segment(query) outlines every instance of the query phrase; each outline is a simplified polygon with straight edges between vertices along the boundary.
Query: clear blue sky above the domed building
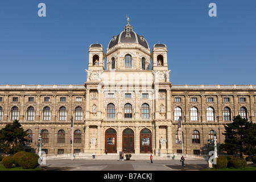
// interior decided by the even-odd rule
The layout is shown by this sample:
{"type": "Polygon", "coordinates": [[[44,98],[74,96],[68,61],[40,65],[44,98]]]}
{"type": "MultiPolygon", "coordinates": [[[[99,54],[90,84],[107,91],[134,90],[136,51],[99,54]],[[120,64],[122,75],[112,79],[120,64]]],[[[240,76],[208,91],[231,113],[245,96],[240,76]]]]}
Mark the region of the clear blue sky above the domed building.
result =
{"type": "Polygon", "coordinates": [[[0,84],[83,84],[90,44],[106,52],[126,14],[150,49],[167,45],[172,84],[256,85],[255,0],[1,0],[0,84]]]}

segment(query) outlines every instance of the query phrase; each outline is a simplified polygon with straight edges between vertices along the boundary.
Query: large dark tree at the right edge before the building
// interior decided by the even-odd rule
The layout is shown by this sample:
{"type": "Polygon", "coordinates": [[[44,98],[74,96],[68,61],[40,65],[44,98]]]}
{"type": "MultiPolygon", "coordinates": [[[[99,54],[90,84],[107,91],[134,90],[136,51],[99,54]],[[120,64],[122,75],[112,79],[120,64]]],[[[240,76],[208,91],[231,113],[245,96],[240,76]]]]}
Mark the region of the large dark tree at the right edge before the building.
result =
{"type": "Polygon", "coordinates": [[[221,149],[228,152],[228,154],[240,155],[255,154],[256,146],[256,124],[247,121],[237,115],[233,118],[232,123],[228,123],[225,127],[224,144],[221,144],[221,149]]]}

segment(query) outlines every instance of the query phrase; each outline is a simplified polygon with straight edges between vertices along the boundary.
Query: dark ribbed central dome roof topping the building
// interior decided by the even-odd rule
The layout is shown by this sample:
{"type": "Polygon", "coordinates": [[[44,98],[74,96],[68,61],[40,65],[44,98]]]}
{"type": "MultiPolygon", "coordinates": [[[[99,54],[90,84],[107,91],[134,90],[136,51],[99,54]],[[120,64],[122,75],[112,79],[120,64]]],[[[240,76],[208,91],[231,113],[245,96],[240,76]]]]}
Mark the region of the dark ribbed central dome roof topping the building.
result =
{"type": "Polygon", "coordinates": [[[114,47],[118,43],[139,43],[144,48],[149,48],[147,40],[144,39],[143,35],[138,35],[133,31],[133,26],[129,23],[123,28],[123,31],[117,35],[113,36],[110,40],[108,49],[114,47]]]}

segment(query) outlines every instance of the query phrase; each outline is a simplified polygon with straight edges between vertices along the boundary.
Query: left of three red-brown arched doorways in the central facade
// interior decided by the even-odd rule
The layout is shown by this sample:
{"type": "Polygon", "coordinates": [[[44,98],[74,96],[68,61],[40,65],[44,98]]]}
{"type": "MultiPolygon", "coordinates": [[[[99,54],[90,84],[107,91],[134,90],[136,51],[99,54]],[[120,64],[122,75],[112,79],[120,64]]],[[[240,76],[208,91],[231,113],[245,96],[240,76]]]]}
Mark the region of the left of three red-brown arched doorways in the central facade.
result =
{"type": "Polygon", "coordinates": [[[117,131],[114,129],[108,129],[105,133],[105,152],[108,150],[108,153],[117,152],[117,131]]]}

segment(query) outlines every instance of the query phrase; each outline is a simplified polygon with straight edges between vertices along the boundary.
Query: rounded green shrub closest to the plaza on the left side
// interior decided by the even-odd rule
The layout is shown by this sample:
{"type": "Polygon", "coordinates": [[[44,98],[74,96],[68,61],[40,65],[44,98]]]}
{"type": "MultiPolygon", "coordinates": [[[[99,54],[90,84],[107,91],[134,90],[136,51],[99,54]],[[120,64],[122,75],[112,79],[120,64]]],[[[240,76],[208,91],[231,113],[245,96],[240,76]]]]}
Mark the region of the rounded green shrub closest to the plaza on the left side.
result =
{"type": "Polygon", "coordinates": [[[39,156],[37,154],[24,154],[20,157],[20,166],[22,166],[23,169],[34,169],[39,165],[38,158],[39,156]]]}

